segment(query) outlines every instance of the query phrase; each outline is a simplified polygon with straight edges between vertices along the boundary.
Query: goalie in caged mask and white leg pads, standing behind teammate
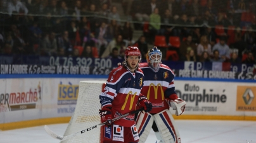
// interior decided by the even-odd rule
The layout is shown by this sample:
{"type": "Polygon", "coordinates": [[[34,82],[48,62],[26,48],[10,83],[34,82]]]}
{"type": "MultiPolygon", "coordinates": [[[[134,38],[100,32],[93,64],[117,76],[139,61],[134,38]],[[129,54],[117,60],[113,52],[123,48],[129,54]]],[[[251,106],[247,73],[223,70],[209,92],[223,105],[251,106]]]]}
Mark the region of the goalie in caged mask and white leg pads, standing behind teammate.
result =
{"type": "Polygon", "coordinates": [[[186,102],[178,98],[174,86],[174,73],[161,64],[162,52],[153,47],[146,55],[147,62],[139,64],[144,73],[144,86],[141,93],[152,103],[148,113],[140,112],[136,118],[139,142],[145,142],[151,128],[160,142],[180,143],[181,138],[169,108],[181,115],[186,102]]]}

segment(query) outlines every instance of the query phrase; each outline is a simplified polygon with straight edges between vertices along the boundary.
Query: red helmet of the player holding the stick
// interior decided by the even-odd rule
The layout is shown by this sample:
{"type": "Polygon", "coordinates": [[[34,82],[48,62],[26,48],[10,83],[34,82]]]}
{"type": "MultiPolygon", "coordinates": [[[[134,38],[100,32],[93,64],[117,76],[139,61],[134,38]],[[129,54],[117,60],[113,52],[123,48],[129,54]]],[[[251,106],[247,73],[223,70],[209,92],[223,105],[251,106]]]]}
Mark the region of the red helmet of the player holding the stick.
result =
{"type": "Polygon", "coordinates": [[[127,49],[125,49],[124,54],[125,54],[125,56],[124,56],[124,60],[125,60],[124,61],[124,66],[127,67],[128,69],[129,69],[129,67],[128,67],[128,64],[127,64],[127,58],[129,56],[138,56],[139,61],[138,61],[137,66],[136,66],[136,69],[137,69],[138,66],[139,66],[139,62],[141,61],[141,52],[139,51],[138,47],[129,46],[129,47],[127,47],[127,49]]]}

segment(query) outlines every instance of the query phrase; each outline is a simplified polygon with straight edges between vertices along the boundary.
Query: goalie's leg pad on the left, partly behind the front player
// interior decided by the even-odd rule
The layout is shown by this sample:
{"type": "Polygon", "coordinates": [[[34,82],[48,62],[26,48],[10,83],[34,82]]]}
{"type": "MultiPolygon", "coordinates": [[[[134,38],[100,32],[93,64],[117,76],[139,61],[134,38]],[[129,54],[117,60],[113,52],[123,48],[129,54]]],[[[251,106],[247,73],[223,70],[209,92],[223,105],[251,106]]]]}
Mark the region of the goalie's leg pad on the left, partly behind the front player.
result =
{"type": "Polygon", "coordinates": [[[139,143],[146,142],[154,120],[150,113],[139,112],[136,119],[136,127],[139,133],[139,143]]]}

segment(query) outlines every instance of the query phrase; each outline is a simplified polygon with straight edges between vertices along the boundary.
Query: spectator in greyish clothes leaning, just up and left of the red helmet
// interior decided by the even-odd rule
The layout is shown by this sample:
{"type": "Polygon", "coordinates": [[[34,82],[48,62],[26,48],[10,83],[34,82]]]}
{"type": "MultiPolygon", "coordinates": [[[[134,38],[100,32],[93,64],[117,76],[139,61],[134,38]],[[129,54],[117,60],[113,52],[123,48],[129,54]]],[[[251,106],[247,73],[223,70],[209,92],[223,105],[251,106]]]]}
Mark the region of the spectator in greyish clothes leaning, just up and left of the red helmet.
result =
{"type": "Polygon", "coordinates": [[[106,57],[110,56],[112,49],[114,47],[117,47],[118,53],[120,54],[120,52],[125,49],[125,45],[123,43],[124,42],[123,42],[122,35],[118,35],[117,38],[115,38],[108,44],[105,51],[101,55],[101,58],[106,58],[106,57]]]}

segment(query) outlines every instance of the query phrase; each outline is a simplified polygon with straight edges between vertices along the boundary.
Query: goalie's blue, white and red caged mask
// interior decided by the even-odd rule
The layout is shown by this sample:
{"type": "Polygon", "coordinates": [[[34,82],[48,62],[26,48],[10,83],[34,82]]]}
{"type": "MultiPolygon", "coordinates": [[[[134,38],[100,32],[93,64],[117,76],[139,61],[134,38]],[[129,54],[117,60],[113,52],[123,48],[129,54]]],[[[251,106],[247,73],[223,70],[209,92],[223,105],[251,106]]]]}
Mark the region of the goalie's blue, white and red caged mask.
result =
{"type": "Polygon", "coordinates": [[[162,52],[157,49],[157,47],[153,47],[148,50],[148,54],[146,54],[146,61],[148,62],[148,66],[150,66],[154,71],[158,71],[162,59],[162,52]]]}

